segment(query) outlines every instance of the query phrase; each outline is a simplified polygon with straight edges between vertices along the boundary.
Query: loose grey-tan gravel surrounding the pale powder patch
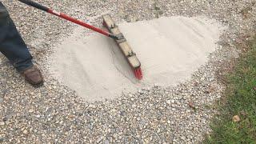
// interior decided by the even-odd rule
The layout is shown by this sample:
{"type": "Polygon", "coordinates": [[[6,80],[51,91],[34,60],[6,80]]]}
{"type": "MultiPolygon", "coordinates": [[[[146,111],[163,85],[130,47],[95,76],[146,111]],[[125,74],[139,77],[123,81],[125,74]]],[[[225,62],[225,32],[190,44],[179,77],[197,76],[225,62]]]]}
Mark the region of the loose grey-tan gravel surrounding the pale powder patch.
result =
{"type": "Polygon", "coordinates": [[[210,61],[190,81],[169,87],[146,87],[104,102],[86,102],[48,74],[52,47],[75,27],[20,2],[5,1],[10,15],[42,68],[45,86],[34,89],[0,55],[0,142],[3,143],[198,143],[210,133],[214,102],[225,86],[218,79],[223,63],[237,58],[236,43],[256,28],[254,0],[75,0],[38,1],[100,26],[101,14],[117,22],[161,16],[204,15],[229,27],[210,61]]]}

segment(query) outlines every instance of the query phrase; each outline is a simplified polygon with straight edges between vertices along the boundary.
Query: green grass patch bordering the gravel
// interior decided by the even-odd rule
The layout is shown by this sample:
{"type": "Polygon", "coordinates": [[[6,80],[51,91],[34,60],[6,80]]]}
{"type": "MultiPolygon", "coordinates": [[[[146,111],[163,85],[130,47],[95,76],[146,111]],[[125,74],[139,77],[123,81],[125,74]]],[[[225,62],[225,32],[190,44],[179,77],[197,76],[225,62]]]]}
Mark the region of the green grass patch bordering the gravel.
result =
{"type": "Polygon", "coordinates": [[[219,102],[221,114],[214,118],[213,132],[205,142],[256,144],[256,38],[226,75],[226,82],[226,97],[219,102]],[[234,115],[241,121],[233,122],[234,115]]]}

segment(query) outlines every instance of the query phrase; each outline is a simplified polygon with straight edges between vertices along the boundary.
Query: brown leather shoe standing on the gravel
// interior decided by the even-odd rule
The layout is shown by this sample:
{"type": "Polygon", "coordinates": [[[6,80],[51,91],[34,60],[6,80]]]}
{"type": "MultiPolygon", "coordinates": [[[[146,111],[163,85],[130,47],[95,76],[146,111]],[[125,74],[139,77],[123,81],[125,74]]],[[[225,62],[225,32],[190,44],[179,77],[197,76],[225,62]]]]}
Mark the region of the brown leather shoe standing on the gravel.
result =
{"type": "Polygon", "coordinates": [[[31,68],[25,70],[22,72],[22,75],[32,86],[39,87],[43,84],[42,73],[37,66],[32,66],[31,68]]]}

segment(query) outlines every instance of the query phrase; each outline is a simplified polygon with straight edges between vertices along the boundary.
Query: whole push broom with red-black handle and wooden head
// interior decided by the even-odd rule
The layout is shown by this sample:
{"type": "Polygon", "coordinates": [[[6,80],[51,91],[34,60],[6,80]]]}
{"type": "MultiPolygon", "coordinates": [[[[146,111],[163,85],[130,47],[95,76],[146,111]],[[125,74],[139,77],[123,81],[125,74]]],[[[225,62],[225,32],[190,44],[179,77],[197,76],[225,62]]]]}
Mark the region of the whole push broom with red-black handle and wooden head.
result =
{"type": "Polygon", "coordinates": [[[102,30],[98,27],[91,26],[87,24],[86,22],[82,22],[76,18],[71,18],[70,16],[59,13],[55,10],[52,10],[46,6],[42,6],[41,4],[37,2],[33,2],[30,0],[18,0],[19,2],[23,2],[28,6],[33,6],[34,8],[37,8],[39,10],[46,11],[47,13],[54,14],[58,16],[59,18],[64,18],[67,21],[74,22],[80,26],[84,26],[90,30],[94,30],[100,34],[104,34],[107,37],[113,38],[114,41],[118,44],[118,47],[122,51],[122,54],[124,54],[127,62],[130,64],[130,67],[134,71],[134,75],[138,80],[142,79],[142,70],[141,70],[141,63],[139,62],[136,54],[131,49],[130,45],[126,41],[126,38],[124,38],[123,34],[118,29],[118,26],[114,23],[113,19],[110,18],[109,14],[104,15],[103,18],[103,25],[107,28],[108,31],[102,30]]]}

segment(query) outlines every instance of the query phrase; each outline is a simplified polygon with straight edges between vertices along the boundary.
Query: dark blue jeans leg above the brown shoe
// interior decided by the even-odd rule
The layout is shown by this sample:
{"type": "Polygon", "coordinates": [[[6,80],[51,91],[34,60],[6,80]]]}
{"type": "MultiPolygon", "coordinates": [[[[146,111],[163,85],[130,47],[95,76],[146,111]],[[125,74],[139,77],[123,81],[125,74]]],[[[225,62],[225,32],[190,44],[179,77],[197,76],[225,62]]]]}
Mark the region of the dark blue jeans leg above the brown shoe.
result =
{"type": "Polygon", "coordinates": [[[33,66],[32,56],[2,2],[0,2],[0,52],[19,72],[33,66]]]}

